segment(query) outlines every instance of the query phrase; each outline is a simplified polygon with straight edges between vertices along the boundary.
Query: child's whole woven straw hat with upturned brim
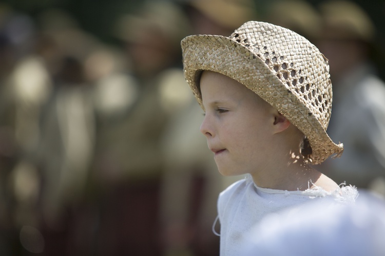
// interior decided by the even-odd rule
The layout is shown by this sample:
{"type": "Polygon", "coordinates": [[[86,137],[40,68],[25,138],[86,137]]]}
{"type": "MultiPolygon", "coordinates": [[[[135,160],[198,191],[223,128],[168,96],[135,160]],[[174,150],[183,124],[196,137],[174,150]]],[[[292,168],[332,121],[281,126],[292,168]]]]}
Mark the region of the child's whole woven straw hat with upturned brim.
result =
{"type": "Polygon", "coordinates": [[[202,105],[202,70],[229,76],[244,84],[290,120],[309,141],[313,164],[339,157],[326,128],[332,107],[328,59],[307,39],[264,22],[247,22],[230,37],[191,35],[182,42],[184,75],[202,105]]]}

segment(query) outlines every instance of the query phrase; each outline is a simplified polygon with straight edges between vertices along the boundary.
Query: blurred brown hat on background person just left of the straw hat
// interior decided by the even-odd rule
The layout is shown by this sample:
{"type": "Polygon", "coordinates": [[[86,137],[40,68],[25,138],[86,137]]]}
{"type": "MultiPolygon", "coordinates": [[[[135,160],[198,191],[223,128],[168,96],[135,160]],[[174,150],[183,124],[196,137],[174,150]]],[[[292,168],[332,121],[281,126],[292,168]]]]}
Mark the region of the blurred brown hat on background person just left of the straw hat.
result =
{"type": "Polygon", "coordinates": [[[115,36],[127,42],[136,42],[144,31],[156,32],[179,44],[188,35],[190,25],[178,5],[166,1],[150,1],[145,2],[136,13],[120,17],[115,26],[115,36]]]}

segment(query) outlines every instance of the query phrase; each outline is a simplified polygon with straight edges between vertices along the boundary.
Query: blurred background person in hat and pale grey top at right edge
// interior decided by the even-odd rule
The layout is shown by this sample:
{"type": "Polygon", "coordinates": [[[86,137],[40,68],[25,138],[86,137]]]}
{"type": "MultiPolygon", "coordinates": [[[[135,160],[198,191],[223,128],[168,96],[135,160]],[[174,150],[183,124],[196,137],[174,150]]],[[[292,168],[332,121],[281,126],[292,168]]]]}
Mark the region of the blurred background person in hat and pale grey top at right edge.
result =
{"type": "Polygon", "coordinates": [[[325,161],[324,170],[337,182],[385,195],[385,84],[370,59],[374,24],[349,1],[325,2],[319,11],[318,47],[329,58],[336,99],[328,132],[345,148],[340,159],[325,161]]]}

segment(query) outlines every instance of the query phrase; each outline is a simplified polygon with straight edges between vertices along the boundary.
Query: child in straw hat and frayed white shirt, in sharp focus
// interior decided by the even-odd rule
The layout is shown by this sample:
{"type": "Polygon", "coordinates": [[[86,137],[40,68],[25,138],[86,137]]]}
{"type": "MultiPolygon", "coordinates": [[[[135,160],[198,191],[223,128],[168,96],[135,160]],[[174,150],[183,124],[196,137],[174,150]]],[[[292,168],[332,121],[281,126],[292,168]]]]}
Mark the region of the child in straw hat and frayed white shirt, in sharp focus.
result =
{"type": "Polygon", "coordinates": [[[219,172],[249,174],[219,196],[221,255],[238,255],[243,236],[268,214],[322,198],[355,200],[355,188],[340,188],[312,167],[343,151],[326,134],[332,84],[314,45],[263,22],[247,22],[230,37],[188,36],[181,45],[219,172]]]}

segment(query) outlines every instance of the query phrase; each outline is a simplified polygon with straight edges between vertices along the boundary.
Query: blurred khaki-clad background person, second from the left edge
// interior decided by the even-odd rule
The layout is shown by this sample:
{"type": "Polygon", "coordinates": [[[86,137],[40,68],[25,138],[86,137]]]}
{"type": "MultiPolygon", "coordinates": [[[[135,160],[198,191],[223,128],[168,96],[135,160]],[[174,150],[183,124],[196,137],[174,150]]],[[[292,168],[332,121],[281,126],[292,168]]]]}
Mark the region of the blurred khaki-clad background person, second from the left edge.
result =
{"type": "MultiPolygon", "coordinates": [[[[40,13],[40,56],[52,80],[52,90],[40,117],[37,164],[42,175],[39,200],[44,253],[79,253],[88,246],[76,241],[76,218],[86,195],[95,146],[93,86],[85,60],[100,41],[75,18],[57,9],[40,13]]],[[[80,234],[77,234],[78,236],[80,234]]]]}

